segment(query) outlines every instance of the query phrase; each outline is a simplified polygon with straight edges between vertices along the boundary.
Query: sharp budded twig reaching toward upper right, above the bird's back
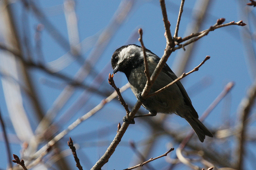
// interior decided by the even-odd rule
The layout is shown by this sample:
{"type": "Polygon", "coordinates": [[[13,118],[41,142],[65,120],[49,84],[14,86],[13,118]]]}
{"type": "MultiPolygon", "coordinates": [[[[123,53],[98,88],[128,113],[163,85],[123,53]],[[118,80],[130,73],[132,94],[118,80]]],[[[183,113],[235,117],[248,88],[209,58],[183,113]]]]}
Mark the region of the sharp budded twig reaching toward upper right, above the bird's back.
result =
{"type": "MultiPolygon", "coordinates": [[[[192,34],[188,35],[187,37],[184,37],[184,38],[182,38],[182,39],[177,40],[177,42],[178,42],[178,43],[182,43],[182,42],[187,41],[187,40],[189,40],[189,39],[191,39],[191,38],[193,38],[193,37],[197,37],[197,36],[199,36],[199,35],[201,35],[201,34],[203,34],[203,33],[205,33],[205,32],[207,32],[207,34],[208,34],[209,31],[214,31],[214,30],[216,30],[216,29],[218,29],[218,28],[226,27],[226,26],[230,26],[230,25],[245,26],[246,23],[244,23],[243,21],[238,21],[238,22],[232,21],[232,22],[229,22],[229,23],[221,24],[221,25],[216,24],[215,26],[211,26],[211,27],[210,27],[209,29],[207,29],[207,30],[200,31],[200,32],[198,32],[198,33],[192,33],[192,34]]],[[[207,35],[207,34],[204,34],[204,35],[207,35]]],[[[198,39],[197,39],[197,40],[198,40],[198,39]]],[[[193,40],[192,42],[197,41],[197,40],[193,40]]],[[[186,45],[188,45],[188,44],[191,44],[192,42],[190,42],[190,41],[189,41],[189,43],[186,42],[186,43],[183,44],[183,46],[186,46],[186,45]],[[187,43],[188,43],[188,44],[187,44],[187,43]]],[[[180,45],[182,45],[182,44],[180,44],[180,45]]],[[[177,47],[175,47],[175,50],[176,50],[176,48],[177,48],[177,47]]],[[[179,47],[179,48],[182,48],[182,47],[179,47]]],[[[179,48],[177,48],[177,49],[179,49],[179,48]]]]}

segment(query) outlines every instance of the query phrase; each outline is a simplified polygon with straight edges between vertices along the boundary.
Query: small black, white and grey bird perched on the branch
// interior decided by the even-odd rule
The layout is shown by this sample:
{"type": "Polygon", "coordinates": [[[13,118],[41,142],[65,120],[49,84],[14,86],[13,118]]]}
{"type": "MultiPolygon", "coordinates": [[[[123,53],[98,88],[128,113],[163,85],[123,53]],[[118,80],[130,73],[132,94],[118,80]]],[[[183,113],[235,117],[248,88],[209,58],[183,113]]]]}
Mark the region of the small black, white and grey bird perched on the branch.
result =
{"type": "MultiPolygon", "coordinates": [[[[148,70],[150,75],[152,75],[160,58],[147,49],[146,55],[148,60],[148,70]]],[[[211,132],[202,124],[202,122],[200,122],[200,120],[198,120],[198,114],[180,81],[176,82],[159,94],[142,99],[141,92],[145,87],[147,78],[144,73],[144,55],[141,46],[130,44],[118,48],[113,53],[111,65],[114,69],[114,74],[118,71],[124,72],[130,83],[132,92],[137,99],[142,101],[143,107],[149,111],[146,116],[155,116],[157,113],[175,113],[187,120],[201,142],[204,141],[205,135],[213,137],[211,132]]],[[[162,71],[156,78],[150,93],[165,87],[176,78],[177,76],[174,72],[167,64],[165,64],[162,71]]],[[[141,116],[145,115],[138,115],[135,117],[141,116]]],[[[128,120],[125,119],[125,117],[123,120],[126,123],[134,123],[134,121],[127,122],[128,120]]]]}

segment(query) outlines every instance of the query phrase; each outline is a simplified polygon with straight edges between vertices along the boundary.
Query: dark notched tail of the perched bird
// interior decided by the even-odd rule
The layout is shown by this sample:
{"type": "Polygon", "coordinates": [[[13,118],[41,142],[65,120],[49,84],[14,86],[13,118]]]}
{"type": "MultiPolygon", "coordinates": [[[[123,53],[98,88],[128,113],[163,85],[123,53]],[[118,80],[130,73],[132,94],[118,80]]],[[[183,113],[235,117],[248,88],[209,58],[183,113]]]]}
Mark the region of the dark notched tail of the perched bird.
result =
{"type": "Polygon", "coordinates": [[[198,120],[197,118],[194,117],[187,117],[185,118],[187,120],[187,122],[189,123],[189,125],[194,129],[194,131],[196,132],[196,135],[198,136],[199,140],[201,142],[204,142],[205,140],[205,135],[209,136],[209,137],[213,137],[213,135],[211,134],[211,132],[205,127],[204,124],[202,124],[202,122],[200,120],[198,120]]]}

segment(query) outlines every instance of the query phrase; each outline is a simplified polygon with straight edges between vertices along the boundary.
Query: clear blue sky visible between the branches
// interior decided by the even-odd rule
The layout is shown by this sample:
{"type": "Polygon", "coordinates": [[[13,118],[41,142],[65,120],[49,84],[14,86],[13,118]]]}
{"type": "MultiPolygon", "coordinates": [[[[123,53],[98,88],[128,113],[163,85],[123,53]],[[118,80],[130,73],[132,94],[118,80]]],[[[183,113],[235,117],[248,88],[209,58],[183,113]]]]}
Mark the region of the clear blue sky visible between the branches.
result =
{"type": "MultiPolygon", "coordinates": [[[[122,45],[125,45],[126,43],[135,43],[140,45],[140,43],[137,41],[138,35],[136,37],[135,34],[135,38],[130,38],[131,34],[136,33],[138,28],[143,29],[143,41],[146,48],[157,54],[159,57],[163,55],[166,40],[164,37],[164,24],[162,21],[161,8],[158,1],[128,1],[132,3],[133,6],[130,13],[128,14],[124,22],[122,22],[120,27],[114,27],[113,25],[109,25],[115,11],[120,5],[120,1],[77,0],[75,2],[79,39],[80,42],[84,40],[84,42],[87,42],[89,44],[87,46],[82,46],[82,49],[84,50],[82,50],[81,56],[83,57],[83,59],[86,59],[88,57],[93,58],[96,56],[95,52],[102,50],[102,53],[99,55],[99,59],[94,65],[95,72],[102,72],[101,75],[103,77],[103,82],[99,86],[101,90],[105,90],[108,92],[113,91],[112,87],[107,82],[109,72],[112,73],[112,68],[109,64],[111,56],[115,49],[119,48],[122,45]],[[107,42],[107,44],[104,44],[104,48],[102,46],[99,46],[100,48],[96,49],[97,46],[95,44],[97,44],[97,39],[106,28],[109,28],[111,31],[113,31],[113,36],[111,37],[109,42],[107,42]],[[88,39],[88,37],[91,38],[88,39]],[[88,50],[87,47],[89,47],[88,50]],[[104,69],[104,71],[102,71],[102,69],[104,69]]],[[[65,20],[65,15],[63,13],[63,1],[45,0],[37,1],[35,2],[35,4],[44,12],[44,14],[47,16],[47,19],[57,28],[61,35],[63,35],[65,39],[68,40],[67,24],[65,20]]],[[[180,1],[166,1],[168,19],[171,23],[172,34],[174,34],[177,22],[179,5],[180,1]]],[[[184,37],[186,28],[193,24],[194,21],[192,14],[194,6],[195,1],[185,1],[184,12],[180,22],[179,36],[184,37]]],[[[33,52],[33,60],[34,62],[38,62],[39,60],[36,53],[35,28],[38,24],[41,23],[41,21],[39,21],[38,18],[36,18],[33,14],[33,12],[29,10],[26,11],[28,15],[28,20],[26,20],[25,22],[22,19],[24,7],[19,1],[15,1],[12,4],[12,7],[15,11],[14,16],[17,23],[19,35],[21,36],[20,39],[23,40],[22,37],[24,36],[23,31],[25,27],[25,29],[29,33],[29,42],[33,52]]],[[[237,1],[212,1],[207,9],[205,19],[202,23],[200,30],[208,29],[211,25],[215,24],[218,18],[226,18],[225,23],[231,21],[237,22],[239,20],[248,21],[248,19],[245,18],[244,15],[241,15],[243,10],[247,8],[253,10],[252,7],[247,7],[246,3],[244,3],[243,6],[240,6],[237,1]]],[[[41,55],[44,58],[43,61],[45,64],[58,59],[69,51],[69,49],[64,49],[58,43],[56,43],[56,41],[50,36],[46,27],[47,26],[44,26],[42,31],[40,32],[40,48],[42,51],[41,55]]],[[[204,124],[209,127],[209,129],[221,128],[223,126],[223,122],[225,122],[225,116],[230,118],[229,121],[231,125],[234,125],[236,123],[238,105],[241,102],[242,98],[246,95],[248,87],[253,82],[253,77],[255,75],[248,71],[247,52],[245,51],[244,45],[242,44],[242,35],[240,35],[240,31],[249,28],[252,27],[249,27],[248,25],[245,27],[233,25],[216,29],[215,31],[210,32],[207,36],[201,38],[195,43],[193,53],[189,59],[189,64],[185,70],[186,72],[192,70],[195,66],[197,66],[202,60],[204,60],[206,55],[211,56],[211,58],[203,66],[200,67],[199,71],[194,72],[193,74],[187,76],[182,80],[182,83],[185,89],[187,89],[188,95],[190,96],[193,106],[195,107],[199,116],[206,110],[211,102],[214,101],[214,99],[222,91],[222,89],[228,82],[233,81],[235,83],[235,86],[228,94],[227,98],[223,100],[206,118],[204,124]],[[228,104],[229,102],[230,104],[228,104]],[[223,114],[223,110],[225,110],[224,108],[228,108],[228,113],[223,114]]],[[[253,47],[255,47],[255,42],[253,43],[253,47]]],[[[175,66],[173,64],[175,57],[178,57],[183,53],[184,51],[182,49],[179,49],[172,53],[167,61],[167,64],[171,68],[174,68],[175,66]]],[[[69,77],[73,77],[79,70],[80,66],[80,62],[72,62],[66,68],[61,70],[60,73],[66,74],[69,77]]],[[[33,79],[33,84],[36,88],[37,95],[39,96],[39,101],[43,107],[43,111],[46,113],[48,109],[52,106],[52,103],[56,100],[57,96],[63,90],[63,87],[65,87],[65,81],[54,76],[49,76],[48,74],[38,69],[31,69],[30,71],[30,75],[33,79]]],[[[175,70],[173,71],[175,72],[175,70]]],[[[90,85],[94,77],[95,74],[90,73],[83,82],[90,85]]],[[[114,75],[114,80],[119,88],[127,83],[127,79],[122,73],[114,75]]],[[[96,85],[94,84],[93,86],[96,85]]],[[[0,84],[0,87],[0,99],[2,101],[0,103],[1,112],[7,124],[8,133],[15,134],[15,131],[11,125],[10,119],[7,114],[8,111],[4,100],[2,84],[0,84]]],[[[83,89],[78,88],[77,90],[75,90],[72,97],[60,110],[54,121],[58,121],[61,115],[65,113],[67,109],[76,102],[82,92],[83,89]]],[[[33,109],[29,107],[30,105],[28,96],[26,96],[26,94],[23,94],[23,96],[25,102],[24,107],[30,119],[31,127],[33,130],[35,130],[38,124],[38,120],[36,120],[35,116],[33,116],[33,109]]],[[[125,101],[135,104],[136,98],[130,89],[126,90],[123,93],[123,96],[125,101]]],[[[68,120],[65,124],[59,125],[59,132],[67,128],[67,126],[69,126],[78,117],[90,111],[93,107],[100,103],[102,99],[104,99],[104,97],[101,95],[90,96],[88,101],[84,105],[82,105],[81,109],[79,109],[73,115],[73,117],[70,118],[70,120],[68,120]]],[[[145,109],[141,108],[141,111],[145,111],[145,109]]],[[[253,109],[253,111],[255,112],[255,108],[253,109]]],[[[68,137],[71,136],[74,142],[77,141],[80,144],[78,156],[80,154],[87,155],[88,157],[88,159],[86,159],[86,162],[81,161],[82,166],[85,169],[86,167],[90,167],[99,159],[100,156],[102,156],[102,154],[104,154],[110,141],[112,141],[115,136],[117,124],[119,122],[122,123],[122,117],[124,115],[125,111],[120,103],[117,101],[111,101],[110,103],[106,104],[103,109],[101,109],[95,115],[80,124],[76,129],[71,131],[62,140],[60,140],[60,148],[63,150],[68,149],[66,143],[68,137]],[[104,129],[105,127],[109,127],[109,132],[102,132],[102,130],[99,130],[102,128],[104,129]],[[87,135],[84,135],[87,133],[93,134],[90,134],[88,137],[87,135]],[[102,141],[106,141],[106,143],[103,142],[102,146],[100,146],[100,142],[102,141]],[[93,142],[97,143],[98,147],[93,145],[93,142]],[[86,163],[87,165],[85,165],[84,163],[86,163]]],[[[167,122],[170,122],[171,125],[175,125],[175,128],[186,127],[188,131],[190,130],[187,122],[175,115],[168,116],[167,120],[167,122]]],[[[133,140],[141,144],[141,141],[149,138],[148,134],[150,133],[150,128],[143,124],[143,118],[138,118],[138,120],[135,119],[135,122],[135,125],[129,126],[122,139],[122,142],[120,143],[120,146],[117,147],[109,162],[103,168],[122,169],[133,165],[132,161],[136,159],[136,156],[131,151],[131,148],[129,147],[129,144],[127,144],[127,142],[129,140],[133,140]]],[[[234,138],[230,137],[227,140],[232,141],[234,140],[234,138]]],[[[161,136],[159,137],[159,139],[157,139],[157,146],[154,147],[150,157],[156,157],[166,152],[166,145],[168,142],[172,142],[173,147],[178,146],[178,143],[175,143],[172,139],[161,136]]],[[[3,141],[0,141],[0,144],[4,146],[3,141]]],[[[255,145],[252,145],[250,147],[255,147],[255,145]]],[[[11,149],[12,153],[19,155],[21,146],[20,144],[12,144],[11,149]]],[[[143,145],[139,145],[139,149],[143,149],[143,145]]],[[[5,147],[0,147],[0,152],[5,153],[5,147]]],[[[252,152],[255,155],[255,150],[252,150],[252,152]]],[[[170,156],[175,157],[175,152],[172,152],[170,156]]],[[[83,159],[82,157],[83,156],[79,157],[80,160],[83,159]]],[[[69,156],[69,159],[72,159],[72,157],[69,156]]],[[[6,157],[3,157],[3,159],[0,160],[0,168],[4,169],[6,167],[6,162],[6,157]]],[[[159,165],[159,167],[164,168],[166,165],[160,166],[160,164],[162,164],[163,162],[165,162],[164,158],[155,161],[155,163],[152,163],[152,165],[155,167],[159,165]]],[[[72,167],[72,169],[76,169],[74,161],[71,162],[70,166],[72,167]]],[[[246,166],[249,168],[252,165],[246,163],[246,166]]]]}

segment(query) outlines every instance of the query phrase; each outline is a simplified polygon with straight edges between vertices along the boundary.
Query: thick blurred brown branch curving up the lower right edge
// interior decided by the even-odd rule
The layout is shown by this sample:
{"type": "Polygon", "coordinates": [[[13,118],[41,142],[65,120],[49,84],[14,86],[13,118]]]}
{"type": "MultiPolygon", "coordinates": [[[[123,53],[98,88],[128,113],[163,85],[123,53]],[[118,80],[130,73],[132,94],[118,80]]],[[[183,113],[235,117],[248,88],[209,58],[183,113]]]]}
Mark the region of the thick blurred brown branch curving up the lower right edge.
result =
{"type": "Polygon", "coordinates": [[[239,124],[237,126],[238,146],[237,146],[237,169],[243,169],[244,152],[245,152],[245,140],[248,125],[248,116],[256,98],[256,79],[253,85],[247,91],[247,96],[241,101],[239,106],[239,124]]]}

